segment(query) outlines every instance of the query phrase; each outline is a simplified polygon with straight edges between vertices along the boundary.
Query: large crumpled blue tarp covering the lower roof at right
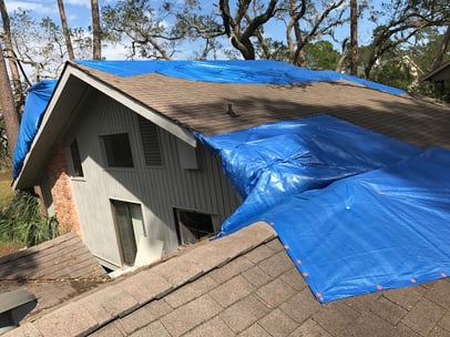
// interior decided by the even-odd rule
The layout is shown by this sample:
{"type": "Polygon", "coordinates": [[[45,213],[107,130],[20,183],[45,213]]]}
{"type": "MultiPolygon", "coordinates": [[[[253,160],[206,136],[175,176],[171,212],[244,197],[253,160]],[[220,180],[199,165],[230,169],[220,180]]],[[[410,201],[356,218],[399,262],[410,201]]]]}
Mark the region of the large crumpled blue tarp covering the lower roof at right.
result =
{"type": "Polygon", "coordinates": [[[450,273],[450,152],[329,116],[197,137],[245,198],[222,233],[273,225],[329,302],[450,273]]]}

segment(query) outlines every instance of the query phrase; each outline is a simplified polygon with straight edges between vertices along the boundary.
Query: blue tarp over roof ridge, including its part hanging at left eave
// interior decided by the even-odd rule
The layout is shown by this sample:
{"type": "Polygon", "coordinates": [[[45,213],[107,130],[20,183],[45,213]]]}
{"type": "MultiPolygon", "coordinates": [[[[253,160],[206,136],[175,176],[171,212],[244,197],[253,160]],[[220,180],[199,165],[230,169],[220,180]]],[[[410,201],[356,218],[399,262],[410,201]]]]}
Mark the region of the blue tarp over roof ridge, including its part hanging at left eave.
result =
{"type": "MultiPolygon", "coordinates": [[[[392,86],[358,79],[335,71],[314,71],[287,63],[256,61],[99,61],[79,60],[79,64],[105,71],[120,76],[132,76],[145,73],[160,73],[167,76],[206,81],[216,83],[250,84],[298,84],[318,81],[347,80],[379,91],[405,94],[392,86]]],[[[57,81],[44,80],[29,89],[29,96],[22,116],[18,144],[13,154],[13,177],[19,176],[24,157],[38,132],[42,113],[53,92],[57,81]]]]}

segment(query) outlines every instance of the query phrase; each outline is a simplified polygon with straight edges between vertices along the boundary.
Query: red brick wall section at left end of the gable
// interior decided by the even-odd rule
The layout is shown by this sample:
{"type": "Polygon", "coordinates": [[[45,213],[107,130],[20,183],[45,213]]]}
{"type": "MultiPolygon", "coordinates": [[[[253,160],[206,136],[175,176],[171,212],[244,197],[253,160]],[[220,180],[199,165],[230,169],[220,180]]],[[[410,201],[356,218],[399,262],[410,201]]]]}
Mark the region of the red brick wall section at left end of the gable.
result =
{"type": "Polygon", "coordinates": [[[61,233],[80,232],[80,223],[68,172],[64,147],[61,143],[58,143],[54,145],[49,160],[48,175],[61,233]]]}

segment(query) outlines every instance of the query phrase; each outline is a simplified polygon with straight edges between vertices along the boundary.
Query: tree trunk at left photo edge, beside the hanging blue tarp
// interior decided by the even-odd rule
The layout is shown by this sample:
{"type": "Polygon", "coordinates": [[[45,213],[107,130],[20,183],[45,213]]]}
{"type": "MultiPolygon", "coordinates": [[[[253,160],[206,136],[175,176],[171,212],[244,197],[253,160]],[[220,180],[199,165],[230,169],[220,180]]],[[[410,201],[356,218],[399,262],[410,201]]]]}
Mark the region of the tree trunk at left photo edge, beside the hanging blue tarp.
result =
{"type": "Polygon", "coordinates": [[[8,135],[8,146],[13,153],[19,133],[19,116],[12,96],[7,65],[4,64],[3,51],[0,52],[0,106],[8,135]]]}

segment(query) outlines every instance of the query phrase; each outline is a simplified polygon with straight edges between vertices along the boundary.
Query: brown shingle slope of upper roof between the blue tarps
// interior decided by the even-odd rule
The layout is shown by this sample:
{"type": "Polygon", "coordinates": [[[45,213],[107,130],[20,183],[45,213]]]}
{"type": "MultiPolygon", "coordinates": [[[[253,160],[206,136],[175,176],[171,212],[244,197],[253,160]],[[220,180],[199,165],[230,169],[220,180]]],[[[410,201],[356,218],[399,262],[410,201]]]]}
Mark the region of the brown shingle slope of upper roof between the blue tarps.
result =
{"type": "Polygon", "coordinates": [[[450,109],[347,81],[296,85],[198,82],[160,75],[117,76],[74,64],[142,104],[206,135],[265,122],[329,114],[421,146],[450,149],[450,109]],[[239,115],[226,112],[228,104],[239,115]]]}

